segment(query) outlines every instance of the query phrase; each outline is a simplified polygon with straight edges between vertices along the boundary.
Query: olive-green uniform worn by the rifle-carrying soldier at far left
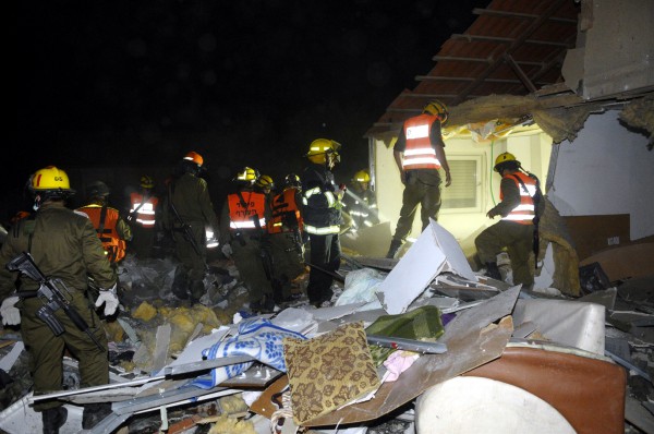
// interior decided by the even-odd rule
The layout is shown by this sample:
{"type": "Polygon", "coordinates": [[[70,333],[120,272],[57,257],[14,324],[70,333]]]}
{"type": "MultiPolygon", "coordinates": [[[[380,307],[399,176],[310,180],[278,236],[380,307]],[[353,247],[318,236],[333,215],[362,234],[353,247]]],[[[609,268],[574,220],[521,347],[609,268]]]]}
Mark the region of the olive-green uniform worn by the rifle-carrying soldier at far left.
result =
{"type": "MultiPolygon", "coordinates": [[[[5,264],[22,252],[29,252],[34,262],[49,277],[61,279],[70,291],[71,305],[88,324],[89,330],[104,347],[96,343],[60,309],[55,312],[65,333],[55,336],[50,328],[36,316],[43,305],[37,297],[24,298],[16,306],[21,310],[21,333],[31,361],[35,395],[48,394],[62,388],[62,362],[64,347],[78,360],[82,375],[81,387],[109,383],[107,361],[107,336],[100,318],[89,304],[85,291],[87,275],[101,288],[116,284],[102,244],[90,220],[65,208],[63,202],[44,204],[35,217],[22,219],[12,228],[0,249],[0,298],[14,290],[17,275],[8,272],[5,264]]],[[[36,291],[38,284],[21,278],[20,290],[36,291]]],[[[61,406],[57,401],[37,402],[37,411],[61,406]]]]}

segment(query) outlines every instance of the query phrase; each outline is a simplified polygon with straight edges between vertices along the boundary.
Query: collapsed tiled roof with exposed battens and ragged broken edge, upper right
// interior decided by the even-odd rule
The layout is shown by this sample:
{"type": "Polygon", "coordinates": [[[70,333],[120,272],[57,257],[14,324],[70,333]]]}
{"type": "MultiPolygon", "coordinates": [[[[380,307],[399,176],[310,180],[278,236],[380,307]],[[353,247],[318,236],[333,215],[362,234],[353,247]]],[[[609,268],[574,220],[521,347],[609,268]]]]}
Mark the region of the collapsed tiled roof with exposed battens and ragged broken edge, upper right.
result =
{"type": "Polygon", "coordinates": [[[432,71],[416,76],[417,86],[398,95],[366,136],[395,134],[431,99],[450,108],[446,134],[533,120],[560,143],[573,140],[591,112],[617,106],[625,123],[653,135],[651,2],[493,0],[473,13],[480,16],[470,28],[443,45],[432,71]]]}

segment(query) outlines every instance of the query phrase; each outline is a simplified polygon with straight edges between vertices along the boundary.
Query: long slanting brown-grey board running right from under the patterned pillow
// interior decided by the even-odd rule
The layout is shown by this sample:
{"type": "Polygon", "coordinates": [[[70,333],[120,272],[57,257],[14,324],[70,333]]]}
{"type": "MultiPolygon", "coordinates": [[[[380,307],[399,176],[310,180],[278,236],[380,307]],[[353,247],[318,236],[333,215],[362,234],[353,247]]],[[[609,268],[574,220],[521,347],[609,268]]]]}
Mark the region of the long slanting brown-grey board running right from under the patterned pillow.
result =
{"type": "Polygon", "coordinates": [[[461,312],[439,339],[447,345],[447,352],[420,357],[398,381],[384,383],[373,399],[332,411],[306,425],[375,420],[415,399],[427,388],[499,358],[513,331],[512,321],[507,315],[513,310],[519,293],[520,287],[513,287],[461,312]],[[493,324],[500,318],[499,324],[493,324]]]}

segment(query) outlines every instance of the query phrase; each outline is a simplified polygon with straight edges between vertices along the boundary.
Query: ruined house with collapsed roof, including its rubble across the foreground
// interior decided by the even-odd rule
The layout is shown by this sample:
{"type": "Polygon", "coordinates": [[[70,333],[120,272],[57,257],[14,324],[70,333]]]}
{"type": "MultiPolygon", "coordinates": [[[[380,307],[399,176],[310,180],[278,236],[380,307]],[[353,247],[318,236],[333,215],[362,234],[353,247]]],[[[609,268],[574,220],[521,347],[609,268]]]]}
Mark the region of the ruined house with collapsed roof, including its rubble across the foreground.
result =
{"type": "MultiPolygon", "coordinates": [[[[195,305],[171,293],[167,255],[129,257],[107,322],[110,384],[34,396],[20,333],[0,340],[0,430],[40,431],[36,401],[111,402],[93,433],[654,432],[654,2],[493,0],[371,126],[382,222],[342,236],[332,305],[253,315],[233,263],[210,255],[195,305]],[[392,145],[431,99],[453,185],[438,221],[397,260],[392,145]],[[473,240],[510,152],[544,185],[533,288],[483,275],[473,240]]],[[[294,285],[306,286],[306,276],[294,285]]]]}

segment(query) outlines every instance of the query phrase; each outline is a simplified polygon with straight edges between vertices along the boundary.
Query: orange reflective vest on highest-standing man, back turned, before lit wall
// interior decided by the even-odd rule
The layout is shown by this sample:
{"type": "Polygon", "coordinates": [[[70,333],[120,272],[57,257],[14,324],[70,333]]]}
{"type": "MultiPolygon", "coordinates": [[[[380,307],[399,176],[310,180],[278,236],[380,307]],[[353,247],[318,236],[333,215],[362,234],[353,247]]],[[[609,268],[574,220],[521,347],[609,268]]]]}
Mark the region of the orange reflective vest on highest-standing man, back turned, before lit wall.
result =
{"type": "Polygon", "coordinates": [[[428,113],[410,118],[404,122],[407,147],[402,158],[403,169],[440,169],[440,161],[436,158],[436,149],[429,138],[434,122],[440,121],[437,116],[428,113]]]}

